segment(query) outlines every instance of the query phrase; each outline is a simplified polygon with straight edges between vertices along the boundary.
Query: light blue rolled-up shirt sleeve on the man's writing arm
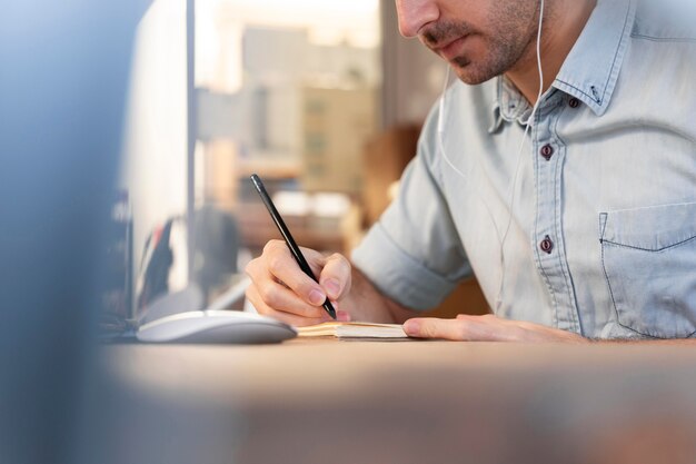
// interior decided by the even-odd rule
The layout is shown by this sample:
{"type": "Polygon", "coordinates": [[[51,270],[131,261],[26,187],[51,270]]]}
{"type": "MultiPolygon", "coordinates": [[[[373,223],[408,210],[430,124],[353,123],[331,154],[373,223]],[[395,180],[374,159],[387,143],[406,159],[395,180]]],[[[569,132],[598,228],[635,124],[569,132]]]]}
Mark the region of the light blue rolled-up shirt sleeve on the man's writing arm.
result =
{"type": "Polygon", "coordinates": [[[398,197],[351,255],[384,295],[418,310],[437,306],[473,274],[435,174],[437,146],[436,107],[398,197]]]}

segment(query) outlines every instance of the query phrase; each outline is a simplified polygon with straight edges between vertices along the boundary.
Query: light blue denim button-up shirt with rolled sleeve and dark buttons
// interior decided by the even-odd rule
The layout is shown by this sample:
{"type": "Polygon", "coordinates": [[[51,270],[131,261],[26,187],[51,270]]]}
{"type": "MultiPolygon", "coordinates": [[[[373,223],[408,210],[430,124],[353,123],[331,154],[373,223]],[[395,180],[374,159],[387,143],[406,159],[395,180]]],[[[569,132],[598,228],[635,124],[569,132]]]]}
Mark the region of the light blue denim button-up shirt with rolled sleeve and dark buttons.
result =
{"type": "Polygon", "coordinates": [[[598,2],[521,152],[506,79],[449,87],[352,253],[382,293],[426,309],[475,273],[501,317],[695,336],[696,40],[635,3],[598,2]]]}

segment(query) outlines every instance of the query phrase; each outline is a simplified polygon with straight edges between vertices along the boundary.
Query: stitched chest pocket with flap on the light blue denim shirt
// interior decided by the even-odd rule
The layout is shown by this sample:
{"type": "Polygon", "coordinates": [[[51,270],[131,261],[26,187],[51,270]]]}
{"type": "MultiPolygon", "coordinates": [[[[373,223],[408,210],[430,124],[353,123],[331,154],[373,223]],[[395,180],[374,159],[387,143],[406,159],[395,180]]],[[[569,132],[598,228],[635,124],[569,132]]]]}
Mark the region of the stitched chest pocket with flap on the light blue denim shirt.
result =
{"type": "Polygon", "coordinates": [[[657,338],[696,334],[696,203],[601,213],[599,230],[618,323],[657,338]]]}

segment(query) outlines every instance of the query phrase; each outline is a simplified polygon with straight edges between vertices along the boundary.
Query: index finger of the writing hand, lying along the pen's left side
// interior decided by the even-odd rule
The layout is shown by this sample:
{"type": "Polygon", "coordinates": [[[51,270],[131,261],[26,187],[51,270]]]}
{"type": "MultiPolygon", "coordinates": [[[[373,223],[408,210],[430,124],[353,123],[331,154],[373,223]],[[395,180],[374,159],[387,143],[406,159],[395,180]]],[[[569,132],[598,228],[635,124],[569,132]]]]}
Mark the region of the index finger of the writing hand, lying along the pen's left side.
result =
{"type": "Polygon", "coordinates": [[[271,278],[282,282],[309,305],[321,306],[326,300],[324,288],[300,269],[285,243],[269,241],[264,248],[261,261],[265,263],[271,278]]]}

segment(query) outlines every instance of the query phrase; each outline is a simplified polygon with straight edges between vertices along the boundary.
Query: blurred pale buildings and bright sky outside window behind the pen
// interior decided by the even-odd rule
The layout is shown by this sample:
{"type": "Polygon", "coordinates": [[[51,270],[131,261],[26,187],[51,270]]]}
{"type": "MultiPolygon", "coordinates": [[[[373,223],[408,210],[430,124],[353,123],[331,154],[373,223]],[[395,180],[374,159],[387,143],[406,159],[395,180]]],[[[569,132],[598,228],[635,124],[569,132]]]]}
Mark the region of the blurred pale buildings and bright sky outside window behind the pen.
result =
{"type": "Polygon", "coordinates": [[[196,203],[233,217],[239,272],[279,238],[252,172],[302,246],[347,251],[357,240],[362,150],[380,121],[379,8],[196,1],[196,203]]]}

